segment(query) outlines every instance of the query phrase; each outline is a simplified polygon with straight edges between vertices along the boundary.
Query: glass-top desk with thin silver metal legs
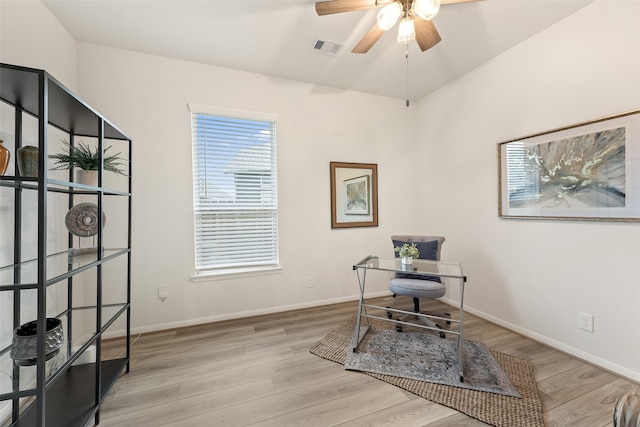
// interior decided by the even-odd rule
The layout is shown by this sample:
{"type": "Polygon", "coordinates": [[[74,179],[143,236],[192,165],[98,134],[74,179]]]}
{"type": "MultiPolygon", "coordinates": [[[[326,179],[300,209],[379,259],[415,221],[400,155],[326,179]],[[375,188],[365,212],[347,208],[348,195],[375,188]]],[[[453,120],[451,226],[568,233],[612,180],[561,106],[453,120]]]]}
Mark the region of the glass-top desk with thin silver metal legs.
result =
{"type": "MultiPolygon", "coordinates": [[[[358,345],[360,344],[360,340],[366,335],[367,331],[370,327],[369,319],[378,319],[384,320],[386,322],[393,322],[397,324],[412,326],[416,328],[422,329],[430,329],[438,332],[442,332],[442,329],[433,328],[431,326],[427,326],[426,324],[416,324],[403,322],[400,320],[389,319],[388,317],[376,316],[374,314],[369,314],[367,309],[379,309],[383,310],[387,313],[401,313],[401,314],[411,314],[414,316],[423,316],[428,317],[432,320],[444,320],[447,324],[451,324],[452,328],[450,331],[446,331],[447,334],[456,335],[458,337],[458,369],[460,372],[460,382],[464,381],[463,375],[463,362],[462,362],[462,348],[464,344],[464,333],[463,333],[463,320],[464,320],[464,286],[467,281],[467,277],[462,274],[462,266],[457,262],[444,262],[444,261],[429,261],[422,259],[414,259],[413,264],[404,265],[402,264],[402,260],[400,258],[380,258],[377,256],[369,255],[362,261],[359,261],[357,264],[353,266],[353,270],[356,272],[358,276],[358,285],[360,286],[360,300],[358,302],[358,317],[356,319],[356,328],[353,331],[353,338],[351,339],[351,349],[352,351],[358,351],[358,345]],[[364,291],[365,291],[365,283],[367,278],[367,271],[369,270],[377,270],[377,271],[388,271],[392,273],[404,273],[404,274],[415,274],[416,278],[418,276],[436,276],[441,278],[450,278],[460,282],[460,302],[456,307],[458,309],[457,317],[452,316],[449,317],[441,317],[436,315],[427,315],[427,314],[417,314],[412,311],[405,311],[391,307],[379,307],[371,304],[366,304],[364,301],[364,291]],[[365,324],[362,324],[362,320],[365,320],[365,324]],[[457,327],[454,327],[457,326],[457,327]]],[[[445,283],[446,284],[446,283],[445,283]]]]}

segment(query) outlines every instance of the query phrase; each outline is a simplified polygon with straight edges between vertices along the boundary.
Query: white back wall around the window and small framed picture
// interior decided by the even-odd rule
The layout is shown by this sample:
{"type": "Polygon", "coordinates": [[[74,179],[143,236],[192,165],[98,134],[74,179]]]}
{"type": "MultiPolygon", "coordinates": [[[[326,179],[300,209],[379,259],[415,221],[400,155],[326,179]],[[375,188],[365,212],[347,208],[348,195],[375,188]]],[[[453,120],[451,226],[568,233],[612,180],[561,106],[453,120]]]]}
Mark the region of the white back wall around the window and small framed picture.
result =
{"type": "MultiPolygon", "coordinates": [[[[134,141],[137,330],[353,299],[353,263],[370,253],[392,256],[389,236],[414,229],[417,219],[399,225],[412,217],[400,208],[413,193],[397,172],[408,162],[403,147],[414,140],[415,117],[401,100],[83,43],[78,64],[84,99],[134,141]],[[278,115],[281,273],[190,280],[189,102],[278,115]],[[331,229],[330,161],[378,164],[380,227],[331,229]],[[161,307],[159,286],[169,291],[161,307]]],[[[382,277],[370,282],[372,292],[387,291],[382,277]]]]}

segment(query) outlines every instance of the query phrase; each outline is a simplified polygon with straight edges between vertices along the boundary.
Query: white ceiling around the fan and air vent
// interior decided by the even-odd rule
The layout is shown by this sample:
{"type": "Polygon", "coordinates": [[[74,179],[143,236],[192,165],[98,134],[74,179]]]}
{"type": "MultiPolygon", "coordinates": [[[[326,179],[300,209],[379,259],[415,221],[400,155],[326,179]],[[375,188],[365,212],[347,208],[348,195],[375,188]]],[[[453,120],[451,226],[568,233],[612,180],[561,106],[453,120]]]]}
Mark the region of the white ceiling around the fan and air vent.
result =
{"type": "Polygon", "coordinates": [[[369,53],[350,52],[377,9],[318,16],[312,0],[43,1],[81,42],[415,100],[593,0],[443,5],[433,21],[442,41],[426,52],[410,43],[408,74],[397,26],[369,53]],[[345,47],[314,52],[318,38],[345,47]]]}

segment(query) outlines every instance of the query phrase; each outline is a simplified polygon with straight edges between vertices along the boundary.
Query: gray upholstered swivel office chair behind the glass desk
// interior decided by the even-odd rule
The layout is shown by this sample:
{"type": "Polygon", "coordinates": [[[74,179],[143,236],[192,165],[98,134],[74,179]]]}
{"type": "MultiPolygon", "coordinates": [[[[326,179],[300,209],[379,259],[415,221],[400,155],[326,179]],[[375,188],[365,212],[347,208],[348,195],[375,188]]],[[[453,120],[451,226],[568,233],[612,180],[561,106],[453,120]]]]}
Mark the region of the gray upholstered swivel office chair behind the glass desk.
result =
{"type": "MultiPolygon", "coordinates": [[[[420,252],[419,259],[430,259],[440,261],[440,253],[442,252],[442,236],[415,236],[415,235],[394,235],[391,236],[393,247],[402,246],[404,243],[415,243],[420,252]]],[[[398,254],[396,254],[396,257],[398,254]]],[[[396,277],[389,282],[389,290],[393,292],[393,297],[407,296],[413,298],[414,313],[422,313],[420,311],[421,299],[436,299],[444,296],[446,287],[439,277],[418,276],[415,274],[396,273],[396,277]]],[[[423,313],[427,314],[427,313],[423,313]]],[[[387,312],[387,317],[392,318],[391,312],[387,312]]],[[[425,323],[432,328],[441,328],[432,320],[426,317],[412,316],[425,323]]],[[[407,316],[400,317],[398,320],[405,320],[407,316]]],[[[396,330],[402,331],[402,325],[396,325],[396,330]]],[[[445,333],[440,332],[442,338],[445,333]]]]}

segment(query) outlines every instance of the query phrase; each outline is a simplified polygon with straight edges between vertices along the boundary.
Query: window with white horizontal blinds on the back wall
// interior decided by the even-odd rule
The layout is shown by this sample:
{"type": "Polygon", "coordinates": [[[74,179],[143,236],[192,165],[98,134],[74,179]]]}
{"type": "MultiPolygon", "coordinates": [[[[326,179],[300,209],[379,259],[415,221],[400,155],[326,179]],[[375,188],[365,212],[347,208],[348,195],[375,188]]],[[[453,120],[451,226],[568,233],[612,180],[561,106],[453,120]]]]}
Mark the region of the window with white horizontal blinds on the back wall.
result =
{"type": "Polygon", "coordinates": [[[275,117],[189,109],[196,273],[276,267],[275,117]]]}

